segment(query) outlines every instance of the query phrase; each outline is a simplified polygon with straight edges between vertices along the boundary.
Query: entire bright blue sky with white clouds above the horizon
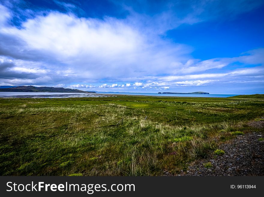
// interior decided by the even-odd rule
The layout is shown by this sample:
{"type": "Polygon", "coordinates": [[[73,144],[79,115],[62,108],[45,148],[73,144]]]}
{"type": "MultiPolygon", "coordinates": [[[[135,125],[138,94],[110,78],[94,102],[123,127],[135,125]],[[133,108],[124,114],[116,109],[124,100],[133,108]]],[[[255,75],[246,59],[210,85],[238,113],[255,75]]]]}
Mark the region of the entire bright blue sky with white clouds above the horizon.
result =
{"type": "Polygon", "coordinates": [[[264,1],[0,0],[0,85],[264,94],[264,1]]]}

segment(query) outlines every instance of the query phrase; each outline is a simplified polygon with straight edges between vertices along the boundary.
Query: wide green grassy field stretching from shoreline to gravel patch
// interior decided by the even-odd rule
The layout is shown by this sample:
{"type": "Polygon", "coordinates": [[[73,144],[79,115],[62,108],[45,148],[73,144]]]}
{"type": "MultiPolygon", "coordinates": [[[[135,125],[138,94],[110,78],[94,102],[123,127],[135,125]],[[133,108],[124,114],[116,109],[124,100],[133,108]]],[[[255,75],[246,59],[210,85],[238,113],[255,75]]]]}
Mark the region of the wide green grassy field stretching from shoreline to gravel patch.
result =
{"type": "Polygon", "coordinates": [[[263,116],[263,94],[0,99],[0,175],[176,174],[263,116]]]}

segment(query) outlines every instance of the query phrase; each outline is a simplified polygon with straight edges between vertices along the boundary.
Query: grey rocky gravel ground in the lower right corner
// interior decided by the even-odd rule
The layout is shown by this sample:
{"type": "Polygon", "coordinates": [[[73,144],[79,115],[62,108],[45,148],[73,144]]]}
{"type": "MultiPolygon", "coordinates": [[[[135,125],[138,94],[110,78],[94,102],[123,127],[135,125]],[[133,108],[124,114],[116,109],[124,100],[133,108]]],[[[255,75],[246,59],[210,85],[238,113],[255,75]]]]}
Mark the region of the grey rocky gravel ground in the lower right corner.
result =
{"type": "MultiPolygon", "coordinates": [[[[251,127],[264,129],[264,121],[250,121],[251,127]]],[[[264,175],[264,138],[262,132],[250,132],[229,140],[218,149],[223,155],[212,154],[205,160],[192,163],[187,172],[178,176],[263,176],[264,175]],[[205,163],[211,167],[205,167],[205,163]]]]}

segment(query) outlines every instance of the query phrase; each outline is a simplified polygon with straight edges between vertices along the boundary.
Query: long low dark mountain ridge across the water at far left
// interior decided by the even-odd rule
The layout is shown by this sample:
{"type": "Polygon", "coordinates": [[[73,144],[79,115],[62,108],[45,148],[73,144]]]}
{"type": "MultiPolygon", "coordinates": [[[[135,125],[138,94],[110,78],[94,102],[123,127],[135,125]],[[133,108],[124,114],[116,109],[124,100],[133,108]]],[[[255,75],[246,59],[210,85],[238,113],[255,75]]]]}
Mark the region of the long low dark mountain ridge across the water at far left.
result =
{"type": "Polygon", "coordinates": [[[0,88],[0,92],[73,92],[73,93],[96,93],[88,92],[70,88],[53,88],[53,87],[34,87],[29,86],[17,86],[13,88],[0,88]]]}

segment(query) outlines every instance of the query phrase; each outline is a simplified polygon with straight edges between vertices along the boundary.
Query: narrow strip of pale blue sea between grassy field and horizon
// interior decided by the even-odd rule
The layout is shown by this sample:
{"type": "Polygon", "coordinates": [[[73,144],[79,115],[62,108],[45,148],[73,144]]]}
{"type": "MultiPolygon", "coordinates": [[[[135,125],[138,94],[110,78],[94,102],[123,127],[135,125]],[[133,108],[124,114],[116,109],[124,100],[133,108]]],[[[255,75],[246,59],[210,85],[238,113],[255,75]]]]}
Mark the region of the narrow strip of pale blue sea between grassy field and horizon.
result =
{"type": "Polygon", "coordinates": [[[239,94],[158,94],[135,92],[97,92],[97,93],[61,93],[61,92],[0,92],[2,98],[77,98],[77,97],[116,97],[116,94],[155,96],[155,97],[232,97],[239,94]]]}

